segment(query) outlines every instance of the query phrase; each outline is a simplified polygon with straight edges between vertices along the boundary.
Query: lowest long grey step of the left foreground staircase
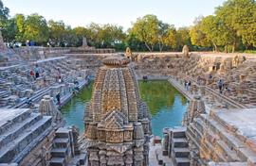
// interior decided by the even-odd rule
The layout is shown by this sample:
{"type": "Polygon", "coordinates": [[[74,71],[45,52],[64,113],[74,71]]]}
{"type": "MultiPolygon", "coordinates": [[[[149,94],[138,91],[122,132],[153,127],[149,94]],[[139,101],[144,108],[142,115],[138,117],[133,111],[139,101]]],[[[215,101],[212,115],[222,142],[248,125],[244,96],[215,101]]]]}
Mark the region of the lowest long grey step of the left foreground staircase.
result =
{"type": "Polygon", "coordinates": [[[18,138],[10,141],[4,147],[1,147],[0,162],[11,161],[12,158],[19,155],[19,153],[26,148],[30,141],[33,141],[40,136],[40,134],[43,133],[49,126],[51,126],[51,117],[44,116],[38,123],[27,127],[27,129],[24,130],[24,132],[19,135],[18,138]]]}

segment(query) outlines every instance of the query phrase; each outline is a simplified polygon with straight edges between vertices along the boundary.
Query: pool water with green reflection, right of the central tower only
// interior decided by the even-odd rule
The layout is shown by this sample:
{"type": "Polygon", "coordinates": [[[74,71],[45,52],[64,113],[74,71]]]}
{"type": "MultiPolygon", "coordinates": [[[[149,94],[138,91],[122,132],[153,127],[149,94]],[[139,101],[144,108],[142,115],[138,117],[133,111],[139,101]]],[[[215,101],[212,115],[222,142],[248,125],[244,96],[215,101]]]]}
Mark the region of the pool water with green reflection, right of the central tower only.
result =
{"type": "Polygon", "coordinates": [[[168,81],[138,82],[139,95],[152,116],[153,134],[162,136],[163,127],[181,125],[188,100],[168,81]]]}

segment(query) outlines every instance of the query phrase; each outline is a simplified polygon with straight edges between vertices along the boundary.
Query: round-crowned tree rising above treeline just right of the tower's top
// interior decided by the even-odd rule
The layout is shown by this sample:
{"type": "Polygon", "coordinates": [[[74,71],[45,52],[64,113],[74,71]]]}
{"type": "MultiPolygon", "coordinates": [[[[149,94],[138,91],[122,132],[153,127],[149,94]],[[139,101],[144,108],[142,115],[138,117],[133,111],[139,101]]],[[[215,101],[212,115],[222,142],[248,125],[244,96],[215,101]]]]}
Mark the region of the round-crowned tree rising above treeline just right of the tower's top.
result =
{"type": "Polygon", "coordinates": [[[158,42],[158,22],[155,15],[145,15],[137,19],[129,32],[135,35],[140,42],[144,42],[150,52],[154,50],[154,46],[158,42]]]}

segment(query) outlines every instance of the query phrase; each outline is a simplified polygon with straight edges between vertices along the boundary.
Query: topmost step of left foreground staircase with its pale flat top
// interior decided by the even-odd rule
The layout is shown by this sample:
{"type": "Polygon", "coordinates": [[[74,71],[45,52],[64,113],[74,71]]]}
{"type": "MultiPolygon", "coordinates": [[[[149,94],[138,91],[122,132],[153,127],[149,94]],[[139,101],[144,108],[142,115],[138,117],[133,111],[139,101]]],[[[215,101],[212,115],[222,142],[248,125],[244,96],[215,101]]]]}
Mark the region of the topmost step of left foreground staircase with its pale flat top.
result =
{"type": "Polygon", "coordinates": [[[5,116],[4,121],[0,121],[0,135],[9,131],[17,123],[23,122],[29,117],[30,109],[1,109],[1,113],[5,116]],[[5,113],[4,113],[5,112],[5,113]]]}

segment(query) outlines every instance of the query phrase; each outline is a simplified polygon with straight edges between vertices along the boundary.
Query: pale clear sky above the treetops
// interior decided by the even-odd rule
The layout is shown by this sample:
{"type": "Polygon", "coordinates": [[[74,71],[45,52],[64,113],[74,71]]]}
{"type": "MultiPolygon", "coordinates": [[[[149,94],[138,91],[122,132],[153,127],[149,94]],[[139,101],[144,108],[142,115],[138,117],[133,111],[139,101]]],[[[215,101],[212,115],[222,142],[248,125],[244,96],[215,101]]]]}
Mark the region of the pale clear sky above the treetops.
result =
{"type": "Polygon", "coordinates": [[[98,24],[117,24],[124,29],[137,17],[155,14],[159,20],[176,27],[192,25],[195,17],[206,16],[225,0],[2,0],[16,13],[39,13],[46,20],[63,20],[72,27],[98,24]]]}

